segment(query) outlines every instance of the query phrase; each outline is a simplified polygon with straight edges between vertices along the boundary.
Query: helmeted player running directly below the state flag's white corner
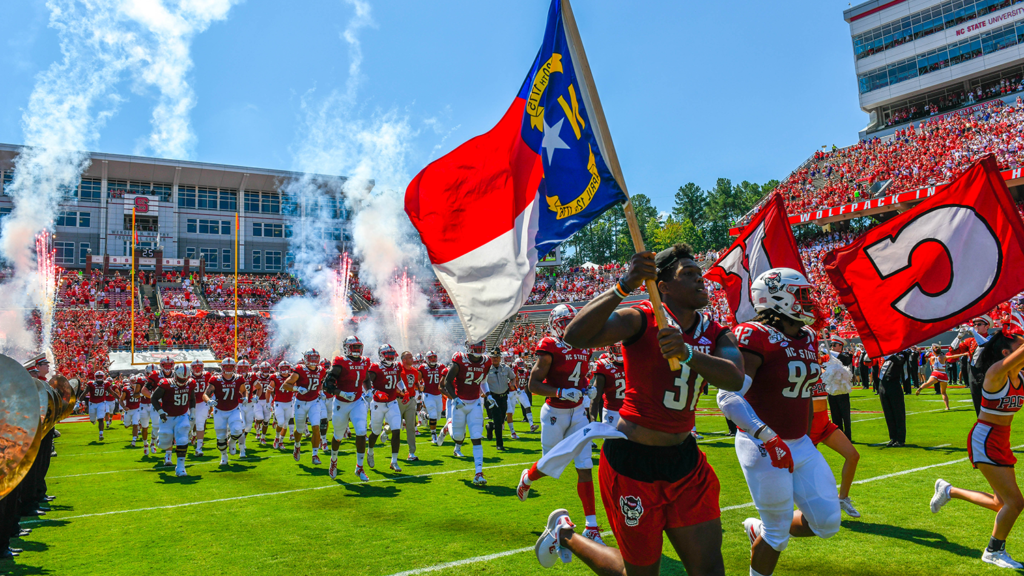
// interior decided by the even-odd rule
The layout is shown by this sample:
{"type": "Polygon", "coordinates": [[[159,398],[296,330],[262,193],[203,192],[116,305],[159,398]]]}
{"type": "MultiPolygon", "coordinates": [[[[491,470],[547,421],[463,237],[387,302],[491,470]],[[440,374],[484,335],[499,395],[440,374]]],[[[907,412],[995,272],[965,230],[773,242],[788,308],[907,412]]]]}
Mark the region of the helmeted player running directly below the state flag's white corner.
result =
{"type": "MultiPolygon", "coordinates": [[[[455,441],[455,455],[462,457],[462,444],[469,428],[469,441],[473,445],[473,484],[483,486],[483,402],[481,396],[487,393],[487,372],[490,359],[483,353],[485,342],[466,342],[467,353],[457,352],[452,357],[447,374],[444,375],[444,393],[452,400],[452,422],[450,429],[455,441]]],[[[446,425],[446,424],[445,424],[446,425]]]]}

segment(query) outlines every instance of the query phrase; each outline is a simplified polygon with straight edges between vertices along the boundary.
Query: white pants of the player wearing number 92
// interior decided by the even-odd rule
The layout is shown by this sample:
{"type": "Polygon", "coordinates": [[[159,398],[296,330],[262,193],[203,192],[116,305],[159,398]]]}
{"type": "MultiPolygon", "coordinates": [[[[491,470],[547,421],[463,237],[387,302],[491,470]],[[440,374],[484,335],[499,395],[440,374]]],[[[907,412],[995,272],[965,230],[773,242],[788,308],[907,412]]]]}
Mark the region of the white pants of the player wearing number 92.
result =
{"type": "Polygon", "coordinates": [[[839,532],[842,520],[836,477],[824,456],[807,436],[786,444],[793,453],[793,474],[771,465],[771,458],[761,441],[742,431],[736,433],[736,457],[764,523],[761,537],[778,551],[784,550],[790,543],[794,503],[804,513],[814,534],[821,538],[839,532]]]}

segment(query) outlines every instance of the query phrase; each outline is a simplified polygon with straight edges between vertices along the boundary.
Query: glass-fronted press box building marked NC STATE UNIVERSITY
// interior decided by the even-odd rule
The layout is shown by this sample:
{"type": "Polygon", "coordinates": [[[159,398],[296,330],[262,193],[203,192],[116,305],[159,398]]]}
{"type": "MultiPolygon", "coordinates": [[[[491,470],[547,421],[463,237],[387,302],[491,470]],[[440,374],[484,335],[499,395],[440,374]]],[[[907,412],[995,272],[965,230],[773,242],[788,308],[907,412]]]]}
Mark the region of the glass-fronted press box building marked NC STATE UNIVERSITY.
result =
{"type": "Polygon", "coordinates": [[[1024,0],[869,0],[849,8],[860,137],[1024,89],[1024,0]]]}

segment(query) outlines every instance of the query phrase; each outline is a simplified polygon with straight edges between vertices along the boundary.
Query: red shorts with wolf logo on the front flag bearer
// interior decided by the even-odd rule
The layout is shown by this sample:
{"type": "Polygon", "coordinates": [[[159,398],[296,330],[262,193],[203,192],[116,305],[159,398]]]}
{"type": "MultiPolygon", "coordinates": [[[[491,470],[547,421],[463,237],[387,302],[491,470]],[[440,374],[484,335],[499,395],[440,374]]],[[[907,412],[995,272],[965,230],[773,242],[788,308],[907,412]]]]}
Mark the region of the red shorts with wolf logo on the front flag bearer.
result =
{"type": "Polygon", "coordinates": [[[696,452],[692,470],[676,482],[642,482],[616,472],[602,448],[601,501],[626,562],[650,566],[662,558],[662,533],[667,528],[693,526],[722,516],[715,468],[703,452],[696,452]]]}

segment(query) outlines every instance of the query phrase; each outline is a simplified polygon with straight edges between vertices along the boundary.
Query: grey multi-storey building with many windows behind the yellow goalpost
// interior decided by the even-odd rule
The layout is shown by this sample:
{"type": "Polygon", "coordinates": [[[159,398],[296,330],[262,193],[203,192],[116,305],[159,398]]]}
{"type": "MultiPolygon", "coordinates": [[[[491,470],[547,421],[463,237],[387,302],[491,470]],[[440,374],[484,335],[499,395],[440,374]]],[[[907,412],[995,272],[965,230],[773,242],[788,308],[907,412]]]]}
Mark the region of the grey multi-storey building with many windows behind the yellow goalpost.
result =
{"type": "MultiPolygon", "coordinates": [[[[0,145],[0,218],[12,208],[8,189],[20,151],[0,145]]],[[[286,182],[302,175],[296,172],[117,154],[90,153],[89,159],[55,222],[55,263],[65,269],[127,269],[134,208],[141,270],[202,265],[212,273],[233,272],[238,214],[239,271],[280,273],[292,261],[296,216],[318,208],[282,193],[286,182]]],[[[344,250],[348,214],[339,198],[329,197],[328,203],[330,223],[316,234],[344,250]]]]}

